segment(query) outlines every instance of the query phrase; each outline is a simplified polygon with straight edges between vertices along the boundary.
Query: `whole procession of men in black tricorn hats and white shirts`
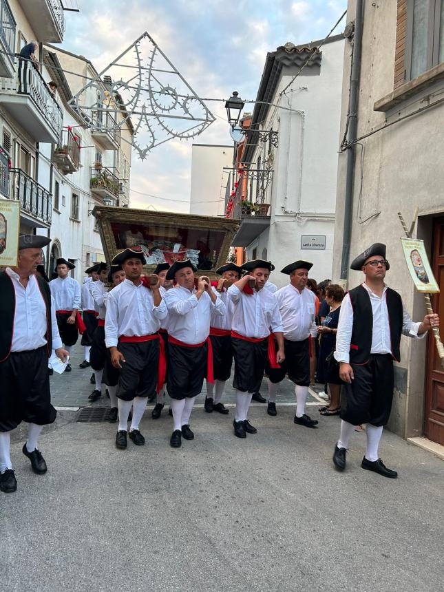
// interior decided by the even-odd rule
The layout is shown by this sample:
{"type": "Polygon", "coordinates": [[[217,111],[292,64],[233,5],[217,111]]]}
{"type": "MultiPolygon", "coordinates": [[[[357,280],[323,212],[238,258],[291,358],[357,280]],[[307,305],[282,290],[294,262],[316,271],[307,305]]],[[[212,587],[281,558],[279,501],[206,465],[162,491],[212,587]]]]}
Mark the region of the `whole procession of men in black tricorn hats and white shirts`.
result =
{"type": "MultiPolygon", "coordinates": [[[[249,408],[264,376],[268,415],[278,415],[277,386],[288,378],[295,388],[297,429],[310,428],[313,438],[319,437],[318,421],[306,412],[310,350],[318,333],[316,297],[307,287],[312,263],[288,263],[280,273],[289,282],[275,290],[269,281],[275,271],[270,261],[226,263],[215,269],[218,279],[211,282],[189,259],[145,273],[145,255],[140,246],[132,246],[118,252],[110,266],[99,262],[88,268],[81,288],[70,276],[74,264],[69,260],[56,260],[57,277],[49,284],[37,274],[41,249],[49,242],[21,235],[17,266],[0,271],[0,311],[5,319],[0,339],[1,491],[17,490],[10,432],[22,421],[29,426],[23,454],[36,474],[47,472],[37,438],[43,426],[56,419],[49,377],[59,363],[63,374],[72,370],[72,347],[79,332],[83,361],[78,366],[93,370],[89,401],[109,397],[118,450],[127,449],[128,438],[136,446],[145,444],[140,422],[147,402],[156,401],[151,417],[159,419],[165,393],[170,399],[173,448],[182,447],[182,439],[199,440],[191,425],[202,390],[205,412],[232,414],[232,421],[226,421],[236,438],[256,434],[261,426],[251,423],[249,408]],[[232,370],[233,410],[224,404],[232,370]]],[[[435,314],[417,323],[410,319],[399,294],[385,284],[390,264],[384,244],[372,244],[351,268],[362,271],[364,278],[347,293],[339,315],[334,357],[343,388],[332,466],[346,469],[352,432],[365,423],[361,467],[396,478],[397,472],[379,456],[392,407],[393,361],[400,359],[401,335],[421,339],[439,326],[439,319],[435,314]]],[[[69,388],[69,377],[63,380],[69,388]]]]}

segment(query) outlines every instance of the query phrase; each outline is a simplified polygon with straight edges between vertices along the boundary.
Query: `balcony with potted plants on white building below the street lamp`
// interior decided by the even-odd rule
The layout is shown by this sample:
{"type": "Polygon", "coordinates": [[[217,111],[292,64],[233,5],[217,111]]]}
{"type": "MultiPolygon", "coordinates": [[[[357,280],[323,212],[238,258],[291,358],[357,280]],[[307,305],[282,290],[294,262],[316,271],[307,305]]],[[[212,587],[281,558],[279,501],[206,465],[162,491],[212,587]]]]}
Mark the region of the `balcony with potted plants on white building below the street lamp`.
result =
{"type": "Polygon", "coordinates": [[[226,218],[240,219],[231,246],[249,246],[270,226],[272,169],[242,169],[226,206],[226,218]]]}

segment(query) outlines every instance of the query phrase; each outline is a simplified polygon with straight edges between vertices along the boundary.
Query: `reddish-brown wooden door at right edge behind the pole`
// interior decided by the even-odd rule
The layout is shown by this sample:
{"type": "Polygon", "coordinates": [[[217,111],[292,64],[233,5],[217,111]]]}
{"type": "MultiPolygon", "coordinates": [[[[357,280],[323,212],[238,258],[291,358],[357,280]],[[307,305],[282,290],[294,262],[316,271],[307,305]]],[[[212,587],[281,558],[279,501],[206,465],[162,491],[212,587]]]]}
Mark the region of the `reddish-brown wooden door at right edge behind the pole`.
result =
{"type": "MultiPolygon", "coordinates": [[[[444,336],[444,218],[433,224],[432,269],[441,292],[432,298],[435,313],[441,317],[441,339],[444,336]]],[[[427,438],[444,445],[444,370],[438,357],[432,331],[428,336],[427,377],[425,379],[425,425],[427,438]]]]}

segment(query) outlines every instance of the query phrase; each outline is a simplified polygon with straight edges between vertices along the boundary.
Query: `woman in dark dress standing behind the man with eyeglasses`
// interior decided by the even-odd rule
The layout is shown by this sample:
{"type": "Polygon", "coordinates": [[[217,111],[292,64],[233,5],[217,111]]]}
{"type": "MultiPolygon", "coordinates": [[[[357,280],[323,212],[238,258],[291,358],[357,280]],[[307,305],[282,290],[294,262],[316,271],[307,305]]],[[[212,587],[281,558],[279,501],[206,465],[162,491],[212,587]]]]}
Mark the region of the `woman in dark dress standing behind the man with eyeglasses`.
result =
{"type": "Polygon", "coordinates": [[[330,389],[330,404],[319,409],[321,415],[338,415],[340,410],[341,384],[339,378],[339,364],[333,358],[332,352],[336,347],[337,326],[339,323],[339,311],[344,297],[344,291],[337,284],[330,284],[326,288],[326,302],[330,307],[327,316],[317,330],[321,334],[319,358],[326,360],[326,383],[330,389]]]}

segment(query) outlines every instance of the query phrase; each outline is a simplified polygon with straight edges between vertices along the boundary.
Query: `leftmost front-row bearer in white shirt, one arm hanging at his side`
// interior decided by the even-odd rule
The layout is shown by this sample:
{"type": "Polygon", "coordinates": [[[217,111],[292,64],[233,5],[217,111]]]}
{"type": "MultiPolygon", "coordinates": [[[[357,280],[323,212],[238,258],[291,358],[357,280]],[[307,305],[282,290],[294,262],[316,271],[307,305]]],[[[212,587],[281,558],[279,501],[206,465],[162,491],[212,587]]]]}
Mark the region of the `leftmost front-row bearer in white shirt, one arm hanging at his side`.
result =
{"type": "MultiPolygon", "coordinates": [[[[118,253],[112,265],[125,271],[124,281],[108,294],[105,317],[105,343],[113,366],[120,370],[118,380],[118,430],[116,447],[127,447],[128,416],[133,406],[129,437],[134,444],[145,444],[139,423],[147,397],[156,392],[161,345],[158,330],[167,317],[167,306],[160,295],[160,282],[145,287],[142,268],[146,260],[140,246],[118,253]]],[[[164,360],[165,361],[165,360],[164,360]]]]}

